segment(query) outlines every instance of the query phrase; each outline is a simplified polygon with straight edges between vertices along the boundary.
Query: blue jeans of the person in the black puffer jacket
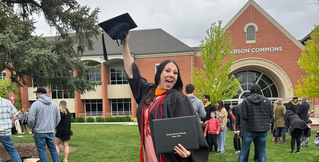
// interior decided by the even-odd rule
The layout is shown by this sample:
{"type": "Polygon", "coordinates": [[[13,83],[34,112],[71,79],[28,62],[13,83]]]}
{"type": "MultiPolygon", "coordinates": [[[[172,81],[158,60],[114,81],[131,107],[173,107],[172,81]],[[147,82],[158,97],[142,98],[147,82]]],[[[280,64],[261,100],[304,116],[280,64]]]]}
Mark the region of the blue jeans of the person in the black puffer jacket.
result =
{"type": "Polygon", "coordinates": [[[242,141],[241,152],[239,153],[238,162],[243,162],[245,156],[250,148],[251,142],[257,139],[258,150],[259,150],[259,162],[266,162],[266,142],[267,142],[268,132],[252,132],[245,131],[244,139],[242,141]]]}

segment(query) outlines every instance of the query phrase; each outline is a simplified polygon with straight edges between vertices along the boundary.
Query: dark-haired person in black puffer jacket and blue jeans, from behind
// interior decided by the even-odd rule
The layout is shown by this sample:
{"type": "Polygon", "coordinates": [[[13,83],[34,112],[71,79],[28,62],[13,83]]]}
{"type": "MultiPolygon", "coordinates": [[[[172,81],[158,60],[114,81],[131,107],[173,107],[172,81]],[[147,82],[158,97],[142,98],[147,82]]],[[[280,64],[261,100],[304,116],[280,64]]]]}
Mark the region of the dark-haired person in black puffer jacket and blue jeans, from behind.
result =
{"type": "Polygon", "coordinates": [[[246,121],[244,139],[238,162],[243,162],[249,150],[250,144],[257,139],[259,150],[259,161],[266,161],[266,142],[270,130],[270,119],[273,115],[271,102],[263,95],[259,95],[261,87],[253,84],[249,91],[251,96],[247,97],[241,105],[241,118],[246,121]]]}

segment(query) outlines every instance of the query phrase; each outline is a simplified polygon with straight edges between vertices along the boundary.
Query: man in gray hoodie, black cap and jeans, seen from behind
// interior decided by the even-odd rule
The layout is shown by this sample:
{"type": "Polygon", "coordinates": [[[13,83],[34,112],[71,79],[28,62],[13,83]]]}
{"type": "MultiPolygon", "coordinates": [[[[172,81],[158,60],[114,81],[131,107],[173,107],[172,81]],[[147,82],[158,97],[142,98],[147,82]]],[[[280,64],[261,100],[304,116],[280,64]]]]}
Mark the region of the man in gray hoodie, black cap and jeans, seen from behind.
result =
{"type": "Polygon", "coordinates": [[[34,91],[38,101],[33,102],[29,111],[28,123],[34,130],[34,142],[41,162],[48,162],[46,145],[51,153],[53,162],[60,162],[59,154],[54,143],[54,129],[60,122],[60,111],[47,95],[46,88],[39,87],[34,91]]]}

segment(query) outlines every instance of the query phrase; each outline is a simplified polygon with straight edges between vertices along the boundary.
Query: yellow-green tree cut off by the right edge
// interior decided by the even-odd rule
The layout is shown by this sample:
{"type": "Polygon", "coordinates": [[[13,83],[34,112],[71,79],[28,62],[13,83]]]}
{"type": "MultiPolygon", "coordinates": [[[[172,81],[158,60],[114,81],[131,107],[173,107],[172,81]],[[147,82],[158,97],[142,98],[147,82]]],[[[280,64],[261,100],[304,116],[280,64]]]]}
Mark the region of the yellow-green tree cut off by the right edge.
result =
{"type": "Polygon", "coordinates": [[[312,30],[311,39],[305,42],[300,61],[297,62],[300,69],[307,75],[301,76],[298,85],[293,90],[297,96],[306,95],[308,98],[319,98],[319,25],[312,30]]]}

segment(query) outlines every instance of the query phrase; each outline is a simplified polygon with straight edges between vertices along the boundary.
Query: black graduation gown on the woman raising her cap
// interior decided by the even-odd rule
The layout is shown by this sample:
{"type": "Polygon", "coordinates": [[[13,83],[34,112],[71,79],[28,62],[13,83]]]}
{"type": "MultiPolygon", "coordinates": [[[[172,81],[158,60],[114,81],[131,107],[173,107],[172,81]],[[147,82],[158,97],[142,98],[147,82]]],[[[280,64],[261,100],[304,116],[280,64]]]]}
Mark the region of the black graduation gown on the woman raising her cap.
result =
{"type": "MultiPolygon", "coordinates": [[[[141,115],[142,109],[144,107],[144,99],[147,93],[150,93],[150,89],[153,87],[153,83],[148,83],[144,80],[139,72],[139,69],[135,63],[133,66],[133,78],[128,79],[130,83],[130,88],[132,90],[133,96],[138,104],[137,106],[137,123],[138,128],[141,134],[141,115]]],[[[192,103],[189,101],[188,97],[183,95],[180,92],[176,92],[174,90],[168,90],[163,94],[167,94],[166,98],[162,103],[162,118],[173,118],[173,117],[182,117],[182,116],[193,116],[196,115],[195,110],[192,106],[192,103]]],[[[155,105],[156,107],[156,105],[155,105]]],[[[155,147],[155,138],[154,138],[154,130],[153,128],[153,119],[155,119],[155,107],[151,110],[151,114],[149,116],[149,127],[152,135],[152,141],[155,147]]],[[[157,119],[160,119],[160,110],[157,111],[157,119]]],[[[143,124],[143,127],[145,125],[143,124]]],[[[189,158],[181,158],[179,155],[174,153],[167,153],[165,155],[166,162],[206,162],[208,161],[209,156],[209,148],[204,138],[203,131],[201,129],[201,125],[198,120],[196,120],[197,126],[197,136],[198,136],[198,144],[199,150],[193,150],[191,152],[191,156],[189,158]]],[[[172,148],[173,150],[174,148],[172,148]]],[[[159,155],[157,156],[157,160],[159,161],[159,155]]]]}

